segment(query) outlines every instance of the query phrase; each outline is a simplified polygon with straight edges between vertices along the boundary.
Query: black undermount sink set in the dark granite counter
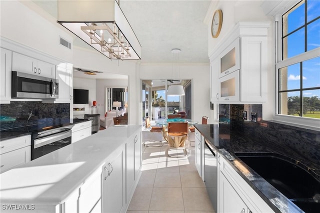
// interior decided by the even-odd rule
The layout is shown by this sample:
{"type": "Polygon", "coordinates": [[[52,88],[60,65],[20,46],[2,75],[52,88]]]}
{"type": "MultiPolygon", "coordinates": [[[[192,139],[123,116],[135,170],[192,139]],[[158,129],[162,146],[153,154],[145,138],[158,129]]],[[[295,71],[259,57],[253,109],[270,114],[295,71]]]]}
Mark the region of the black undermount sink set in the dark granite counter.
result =
{"type": "Polygon", "coordinates": [[[274,153],[238,152],[235,155],[305,212],[320,212],[320,182],[299,161],[274,153]]]}

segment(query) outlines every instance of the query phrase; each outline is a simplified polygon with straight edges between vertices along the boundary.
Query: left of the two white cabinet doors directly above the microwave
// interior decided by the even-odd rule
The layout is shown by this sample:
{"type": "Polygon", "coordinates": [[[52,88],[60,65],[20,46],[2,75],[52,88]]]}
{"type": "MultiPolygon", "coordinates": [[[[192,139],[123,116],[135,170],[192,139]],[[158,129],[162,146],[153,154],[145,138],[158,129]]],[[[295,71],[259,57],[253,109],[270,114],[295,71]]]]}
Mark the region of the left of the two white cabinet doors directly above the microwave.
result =
{"type": "Polygon", "coordinates": [[[12,52],[12,70],[36,75],[38,71],[36,59],[17,52],[12,52]]]}

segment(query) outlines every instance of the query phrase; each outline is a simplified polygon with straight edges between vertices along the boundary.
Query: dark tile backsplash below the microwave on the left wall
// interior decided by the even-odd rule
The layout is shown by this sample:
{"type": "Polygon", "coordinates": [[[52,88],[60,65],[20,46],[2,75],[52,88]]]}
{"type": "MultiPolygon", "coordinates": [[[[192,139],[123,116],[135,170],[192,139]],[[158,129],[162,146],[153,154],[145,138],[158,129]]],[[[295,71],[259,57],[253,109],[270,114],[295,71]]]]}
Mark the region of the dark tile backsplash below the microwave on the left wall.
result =
{"type": "Polygon", "coordinates": [[[40,101],[11,101],[0,104],[0,129],[20,126],[43,118],[69,118],[69,103],[42,103],[40,101]]]}

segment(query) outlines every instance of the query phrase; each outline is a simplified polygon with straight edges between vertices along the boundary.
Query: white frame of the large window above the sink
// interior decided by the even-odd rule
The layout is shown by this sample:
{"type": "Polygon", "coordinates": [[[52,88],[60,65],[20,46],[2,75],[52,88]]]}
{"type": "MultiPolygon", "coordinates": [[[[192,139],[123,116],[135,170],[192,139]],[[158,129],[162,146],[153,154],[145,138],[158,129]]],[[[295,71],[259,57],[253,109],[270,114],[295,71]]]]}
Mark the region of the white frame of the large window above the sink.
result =
{"type": "MultiPolygon", "coordinates": [[[[314,57],[320,56],[320,47],[314,48],[312,50],[303,52],[301,54],[282,59],[282,15],[294,7],[298,1],[293,1],[292,4],[288,7],[283,7],[281,11],[278,10],[277,14],[274,17],[274,38],[275,38],[275,64],[274,64],[274,73],[275,73],[275,104],[274,104],[274,115],[273,120],[278,122],[289,123],[290,125],[295,125],[299,127],[309,128],[320,130],[320,119],[303,117],[303,116],[293,116],[286,114],[279,114],[279,69],[286,67],[295,63],[300,63],[314,57]],[[285,9],[288,8],[288,9],[285,9]]],[[[300,88],[302,89],[302,88],[300,88]]]]}

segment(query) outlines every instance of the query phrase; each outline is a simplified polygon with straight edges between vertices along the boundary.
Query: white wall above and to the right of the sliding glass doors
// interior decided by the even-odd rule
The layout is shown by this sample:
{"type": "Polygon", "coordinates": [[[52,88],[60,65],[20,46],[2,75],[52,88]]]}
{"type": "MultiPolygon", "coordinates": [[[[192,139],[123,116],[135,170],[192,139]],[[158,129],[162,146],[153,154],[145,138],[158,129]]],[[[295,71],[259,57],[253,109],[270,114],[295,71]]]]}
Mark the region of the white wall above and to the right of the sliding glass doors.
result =
{"type": "Polygon", "coordinates": [[[180,64],[178,72],[172,71],[172,65],[140,65],[139,77],[140,79],[192,79],[191,119],[200,121],[203,115],[209,116],[210,72],[208,64],[180,64]]]}

